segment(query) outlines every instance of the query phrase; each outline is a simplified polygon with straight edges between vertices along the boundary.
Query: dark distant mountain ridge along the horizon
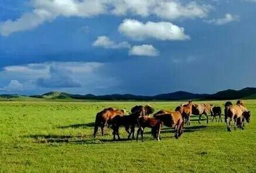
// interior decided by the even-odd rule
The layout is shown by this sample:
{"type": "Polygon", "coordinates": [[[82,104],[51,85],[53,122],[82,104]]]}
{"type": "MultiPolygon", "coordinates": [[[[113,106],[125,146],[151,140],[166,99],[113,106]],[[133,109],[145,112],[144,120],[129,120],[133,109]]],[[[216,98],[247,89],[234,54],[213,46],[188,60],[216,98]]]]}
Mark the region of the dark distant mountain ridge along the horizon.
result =
{"type": "MultiPolygon", "coordinates": [[[[1,98],[19,98],[18,94],[1,94],[1,98]]],[[[22,96],[23,98],[25,96],[22,96]]],[[[255,99],[256,88],[247,87],[241,90],[222,90],[215,94],[194,94],[191,92],[177,91],[167,94],[157,94],[155,96],[142,96],[135,94],[107,94],[107,95],[93,95],[93,94],[69,94],[66,92],[51,91],[45,94],[31,95],[30,98],[45,98],[45,99],[76,99],[76,100],[233,100],[233,99],[255,99]]]]}

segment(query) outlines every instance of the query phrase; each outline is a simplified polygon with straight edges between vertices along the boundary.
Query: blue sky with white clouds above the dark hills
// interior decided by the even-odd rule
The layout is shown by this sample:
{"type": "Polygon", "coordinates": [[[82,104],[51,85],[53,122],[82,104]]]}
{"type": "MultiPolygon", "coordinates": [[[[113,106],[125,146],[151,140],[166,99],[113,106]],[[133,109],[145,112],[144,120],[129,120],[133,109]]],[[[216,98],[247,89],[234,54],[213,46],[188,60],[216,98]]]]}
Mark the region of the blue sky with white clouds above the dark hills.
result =
{"type": "Polygon", "coordinates": [[[256,87],[255,0],[0,0],[0,94],[256,87]]]}

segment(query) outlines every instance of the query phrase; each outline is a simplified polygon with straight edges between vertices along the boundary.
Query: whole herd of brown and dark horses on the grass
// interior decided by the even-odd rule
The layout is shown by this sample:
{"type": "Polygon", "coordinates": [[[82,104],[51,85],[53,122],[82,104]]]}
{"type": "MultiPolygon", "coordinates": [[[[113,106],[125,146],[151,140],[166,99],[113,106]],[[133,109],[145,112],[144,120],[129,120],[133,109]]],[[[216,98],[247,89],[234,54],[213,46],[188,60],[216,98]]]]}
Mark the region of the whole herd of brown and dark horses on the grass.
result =
{"type": "MultiPolygon", "coordinates": [[[[143,132],[146,127],[151,128],[151,134],[158,141],[160,140],[161,127],[167,126],[174,128],[175,138],[179,138],[183,133],[184,124],[190,125],[191,115],[199,116],[199,124],[201,124],[201,116],[205,115],[208,124],[208,114],[213,116],[212,121],[215,119],[217,122],[222,122],[221,119],[221,107],[213,106],[213,104],[195,104],[192,100],[188,103],[177,106],[174,111],[172,110],[159,110],[153,114],[154,108],[146,106],[134,106],[131,108],[131,113],[125,115],[124,109],[105,108],[98,112],[95,118],[95,128],[93,136],[95,137],[98,131],[98,127],[101,127],[101,134],[103,135],[104,127],[109,125],[113,129],[113,140],[120,140],[119,128],[125,127],[128,133],[128,139],[135,139],[135,126],[138,126],[137,137],[141,134],[141,140],[143,141],[143,132]],[[153,116],[151,117],[151,114],[153,116]]],[[[245,120],[249,123],[251,112],[245,107],[245,102],[238,100],[235,105],[228,101],[225,103],[225,123],[227,124],[227,130],[231,131],[231,122],[234,121],[234,129],[239,127],[244,129],[245,120]]]]}

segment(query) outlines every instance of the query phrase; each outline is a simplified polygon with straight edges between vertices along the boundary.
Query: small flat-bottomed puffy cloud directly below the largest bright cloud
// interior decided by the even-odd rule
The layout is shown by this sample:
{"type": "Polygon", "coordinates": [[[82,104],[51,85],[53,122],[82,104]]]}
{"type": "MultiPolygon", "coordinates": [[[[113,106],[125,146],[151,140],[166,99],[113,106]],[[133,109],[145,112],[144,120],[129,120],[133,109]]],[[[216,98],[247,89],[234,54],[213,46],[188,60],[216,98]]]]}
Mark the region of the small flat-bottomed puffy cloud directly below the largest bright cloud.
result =
{"type": "Polygon", "coordinates": [[[130,49],[129,55],[155,57],[159,52],[152,45],[135,45],[130,49]]]}

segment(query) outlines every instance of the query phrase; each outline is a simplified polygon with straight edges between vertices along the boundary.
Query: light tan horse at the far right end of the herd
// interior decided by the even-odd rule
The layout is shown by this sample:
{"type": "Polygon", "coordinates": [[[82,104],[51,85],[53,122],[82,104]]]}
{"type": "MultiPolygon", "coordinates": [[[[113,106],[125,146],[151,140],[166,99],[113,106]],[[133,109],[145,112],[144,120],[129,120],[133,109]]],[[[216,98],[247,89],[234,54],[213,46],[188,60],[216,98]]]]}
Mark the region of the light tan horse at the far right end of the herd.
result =
{"type": "Polygon", "coordinates": [[[234,130],[236,127],[239,127],[243,130],[243,126],[241,126],[244,118],[247,122],[250,121],[251,112],[245,108],[242,104],[236,104],[227,106],[227,130],[231,132],[231,122],[234,120],[234,130]]]}

